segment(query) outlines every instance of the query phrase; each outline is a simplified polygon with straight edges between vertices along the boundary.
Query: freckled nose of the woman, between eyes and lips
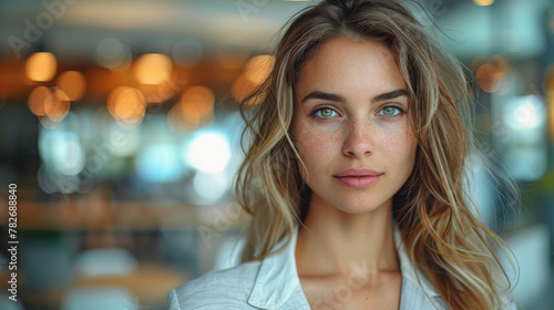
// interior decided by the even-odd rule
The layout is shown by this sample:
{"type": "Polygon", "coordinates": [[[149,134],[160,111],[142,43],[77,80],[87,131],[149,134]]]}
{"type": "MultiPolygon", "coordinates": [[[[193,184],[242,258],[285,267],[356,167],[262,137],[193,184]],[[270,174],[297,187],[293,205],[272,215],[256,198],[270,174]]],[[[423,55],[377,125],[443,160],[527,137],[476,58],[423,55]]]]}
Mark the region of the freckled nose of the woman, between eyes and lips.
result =
{"type": "Polygon", "coordinates": [[[367,157],[373,152],[371,124],[365,117],[351,120],[345,128],[342,154],[347,157],[367,157]]]}

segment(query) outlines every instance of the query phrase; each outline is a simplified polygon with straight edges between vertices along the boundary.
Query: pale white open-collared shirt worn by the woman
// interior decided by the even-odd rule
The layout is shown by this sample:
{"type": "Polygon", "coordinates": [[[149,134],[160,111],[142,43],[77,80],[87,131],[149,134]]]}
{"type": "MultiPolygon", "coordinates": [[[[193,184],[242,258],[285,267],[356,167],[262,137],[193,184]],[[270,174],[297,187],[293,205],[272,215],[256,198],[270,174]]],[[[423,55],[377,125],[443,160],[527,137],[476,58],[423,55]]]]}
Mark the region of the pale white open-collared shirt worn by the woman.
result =
{"type": "MultiPolygon", "coordinates": [[[[263,260],[209,271],[173,289],[167,296],[170,309],[309,310],[296,269],[297,236],[298,229],[295,229],[285,249],[263,260]]],[[[280,248],[285,241],[276,247],[280,248]]],[[[402,275],[400,310],[448,309],[431,282],[411,264],[398,230],[394,231],[394,242],[402,275]]],[[[341,309],[340,298],[329,300],[327,306],[325,309],[341,309]]]]}

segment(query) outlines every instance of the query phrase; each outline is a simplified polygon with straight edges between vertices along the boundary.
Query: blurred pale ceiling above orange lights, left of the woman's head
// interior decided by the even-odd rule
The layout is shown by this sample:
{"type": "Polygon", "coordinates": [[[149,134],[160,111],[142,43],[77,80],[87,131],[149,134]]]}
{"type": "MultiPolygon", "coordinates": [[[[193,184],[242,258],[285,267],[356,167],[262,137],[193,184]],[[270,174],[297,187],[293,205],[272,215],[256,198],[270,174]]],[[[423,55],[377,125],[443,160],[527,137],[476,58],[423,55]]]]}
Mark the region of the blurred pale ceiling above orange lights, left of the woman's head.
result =
{"type": "MultiPolygon", "coordinates": [[[[267,51],[279,27],[309,2],[281,0],[24,0],[0,2],[0,53],[13,53],[10,37],[23,41],[37,27],[40,49],[59,56],[92,58],[105,38],[134,53],[166,53],[182,39],[205,52],[267,51]],[[51,3],[49,8],[43,2],[51,3]],[[55,3],[52,4],[52,3],[55,3]],[[49,18],[51,21],[49,21],[49,18]],[[48,27],[52,24],[52,27],[48,27]],[[32,24],[32,25],[29,25],[32,24]],[[40,24],[44,30],[40,29],[40,24]]],[[[33,33],[31,33],[33,34],[33,33]]],[[[33,42],[33,44],[35,44],[33,42]]]]}

